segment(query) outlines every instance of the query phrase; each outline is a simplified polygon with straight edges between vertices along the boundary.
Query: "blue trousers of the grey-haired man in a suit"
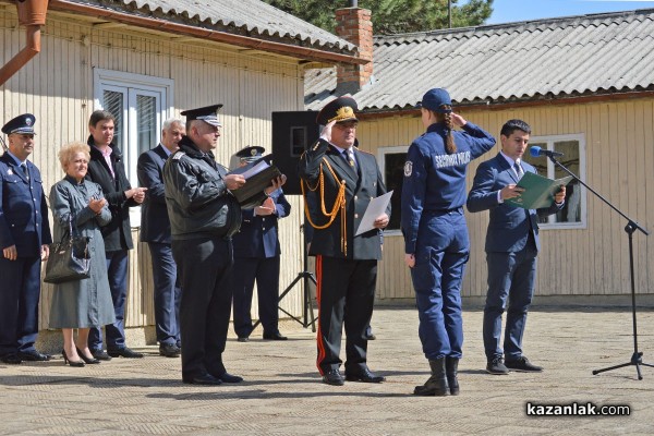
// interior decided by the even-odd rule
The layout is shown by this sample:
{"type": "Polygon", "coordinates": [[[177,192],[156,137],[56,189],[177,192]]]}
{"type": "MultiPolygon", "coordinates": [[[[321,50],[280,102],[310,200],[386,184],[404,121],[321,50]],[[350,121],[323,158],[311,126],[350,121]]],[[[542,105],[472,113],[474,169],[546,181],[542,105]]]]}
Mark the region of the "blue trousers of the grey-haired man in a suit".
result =
{"type": "Polygon", "coordinates": [[[180,346],[180,299],[182,288],[170,244],[147,243],[153,259],[155,323],[159,344],[180,346]]]}

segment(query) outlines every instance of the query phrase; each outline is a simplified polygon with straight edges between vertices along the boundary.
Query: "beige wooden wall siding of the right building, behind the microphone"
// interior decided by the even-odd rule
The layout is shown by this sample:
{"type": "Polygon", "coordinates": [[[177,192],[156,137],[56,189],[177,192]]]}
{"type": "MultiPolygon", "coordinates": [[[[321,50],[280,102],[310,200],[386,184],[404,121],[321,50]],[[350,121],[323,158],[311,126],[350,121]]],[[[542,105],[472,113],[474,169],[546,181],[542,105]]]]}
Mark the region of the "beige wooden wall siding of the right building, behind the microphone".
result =
{"type": "MultiPolygon", "coordinates": [[[[532,136],[584,134],[585,181],[607,199],[654,230],[654,99],[606,101],[582,105],[543,106],[496,111],[465,111],[462,114],[499,138],[501,124],[511,118],[526,120],[532,136]]],[[[360,124],[362,148],[378,155],[379,147],[409,145],[422,134],[417,117],[365,121],[360,124]]],[[[479,162],[499,152],[499,144],[469,168],[468,189],[479,162]]],[[[627,221],[592,193],[588,198],[588,227],[573,230],[541,230],[536,293],[540,295],[628,294],[627,221]]],[[[393,210],[393,214],[399,210],[393,210]]],[[[471,255],[463,282],[464,296],[486,292],[484,242],[488,213],[469,214],[471,255]]],[[[654,245],[652,238],[633,234],[637,292],[654,292],[654,245]]],[[[385,238],[378,296],[414,296],[411,278],[403,265],[403,239],[385,238]]]]}

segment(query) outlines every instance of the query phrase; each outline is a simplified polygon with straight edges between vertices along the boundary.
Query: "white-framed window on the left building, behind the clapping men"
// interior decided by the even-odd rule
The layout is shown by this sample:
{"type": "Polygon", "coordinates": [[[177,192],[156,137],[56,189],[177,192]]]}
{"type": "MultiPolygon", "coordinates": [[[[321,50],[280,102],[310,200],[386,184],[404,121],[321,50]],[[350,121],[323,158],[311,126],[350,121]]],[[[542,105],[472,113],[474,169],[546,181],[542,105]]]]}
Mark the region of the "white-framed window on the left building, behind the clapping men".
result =
{"type": "MultiPolygon", "coordinates": [[[[95,109],[116,117],[113,143],[124,158],[132,186],[138,185],[138,156],[160,140],[164,120],[172,116],[172,86],[168,78],[95,69],[95,109]]],[[[141,223],[141,210],[130,208],[133,227],[141,223]]]]}

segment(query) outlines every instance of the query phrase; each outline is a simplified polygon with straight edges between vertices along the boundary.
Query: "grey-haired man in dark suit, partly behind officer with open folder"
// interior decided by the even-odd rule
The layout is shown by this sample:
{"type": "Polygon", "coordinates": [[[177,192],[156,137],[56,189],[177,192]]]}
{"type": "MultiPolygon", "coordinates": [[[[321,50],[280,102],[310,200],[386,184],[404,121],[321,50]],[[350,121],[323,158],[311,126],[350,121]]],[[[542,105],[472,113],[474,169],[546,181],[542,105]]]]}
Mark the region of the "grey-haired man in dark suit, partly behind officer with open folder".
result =
{"type": "Polygon", "coordinates": [[[161,143],[138,156],[136,173],[138,184],[147,187],[141,209],[141,241],[147,242],[153,261],[155,284],[155,323],[159,354],[167,358],[180,355],[180,299],[181,288],[177,264],[172,258],[170,219],[164,191],[164,164],[180,147],[178,143],[186,129],[181,120],[164,122],[161,143]]]}

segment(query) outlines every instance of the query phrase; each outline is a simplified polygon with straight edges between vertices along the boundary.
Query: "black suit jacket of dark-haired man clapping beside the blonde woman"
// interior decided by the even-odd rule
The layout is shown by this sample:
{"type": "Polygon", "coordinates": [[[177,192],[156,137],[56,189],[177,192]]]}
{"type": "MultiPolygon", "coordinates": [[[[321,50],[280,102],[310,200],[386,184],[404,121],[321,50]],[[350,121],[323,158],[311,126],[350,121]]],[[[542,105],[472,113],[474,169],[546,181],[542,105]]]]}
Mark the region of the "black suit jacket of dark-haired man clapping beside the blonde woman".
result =
{"type": "Polygon", "coordinates": [[[93,145],[93,136],[88,137],[88,145],[90,146],[90,160],[86,179],[100,185],[105,198],[109,203],[109,211],[111,211],[111,222],[101,227],[105,250],[107,252],[132,250],[134,244],[130,229],[130,207],[137,206],[137,203],[134,198],[125,197],[125,191],[131,190],[132,186],[125,175],[122,154],[116,145],[109,145],[112,149],[111,166],[116,174],[112,177],[102,154],[93,145]]]}

